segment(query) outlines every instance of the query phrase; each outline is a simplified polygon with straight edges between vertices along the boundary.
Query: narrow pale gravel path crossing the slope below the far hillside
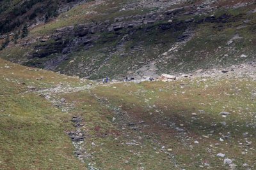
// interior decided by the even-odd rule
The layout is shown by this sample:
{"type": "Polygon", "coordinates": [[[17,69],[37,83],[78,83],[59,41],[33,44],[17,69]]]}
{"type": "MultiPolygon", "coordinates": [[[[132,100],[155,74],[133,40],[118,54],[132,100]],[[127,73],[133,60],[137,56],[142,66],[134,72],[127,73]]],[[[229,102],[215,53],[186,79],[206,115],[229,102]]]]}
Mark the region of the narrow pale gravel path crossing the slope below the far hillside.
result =
{"type": "MultiPolygon", "coordinates": [[[[253,78],[256,79],[256,61],[247,62],[244,64],[233,65],[230,67],[219,67],[212,69],[198,69],[194,73],[188,74],[179,74],[177,75],[177,80],[182,79],[195,79],[195,78],[253,78]]],[[[61,93],[73,93],[83,90],[90,90],[95,87],[109,87],[115,83],[125,84],[129,82],[141,83],[143,81],[148,81],[147,79],[132,80],[132,81],[110,81],[109,83],[86,83],[86,85],[71,87],[68,85],[58,85],[49,89],[35,90],[32,89],[32,92],[38,92],[39,94],[49,95],[49,94],[61,94],[61,93]]],[[[157,81],[157,80],[156,80],[157,81]]],[[[31,92],[28,91],[28,92],[31,92]]]]}

